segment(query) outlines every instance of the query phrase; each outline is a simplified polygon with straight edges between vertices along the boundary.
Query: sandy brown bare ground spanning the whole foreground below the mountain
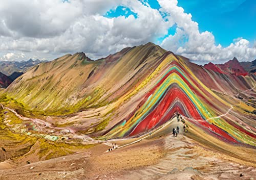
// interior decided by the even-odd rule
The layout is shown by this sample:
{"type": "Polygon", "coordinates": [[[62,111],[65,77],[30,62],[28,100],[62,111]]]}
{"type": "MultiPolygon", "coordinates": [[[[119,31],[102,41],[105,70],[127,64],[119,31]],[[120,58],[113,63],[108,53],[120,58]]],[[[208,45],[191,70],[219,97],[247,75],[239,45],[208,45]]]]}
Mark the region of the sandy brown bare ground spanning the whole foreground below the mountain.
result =
{"type": "Polygon", "coordinates": [[[127,146],[109,152],[109,146],[99,144],[27,165],[9,159],[0,163],[0,179],[256,179],[255,158],[247,162],[196,142],[183,132],[181,122],[132,142],[114,140],[109,143],[127,146]],[[173,137],[177,125],[180,134],[173,137]]]}

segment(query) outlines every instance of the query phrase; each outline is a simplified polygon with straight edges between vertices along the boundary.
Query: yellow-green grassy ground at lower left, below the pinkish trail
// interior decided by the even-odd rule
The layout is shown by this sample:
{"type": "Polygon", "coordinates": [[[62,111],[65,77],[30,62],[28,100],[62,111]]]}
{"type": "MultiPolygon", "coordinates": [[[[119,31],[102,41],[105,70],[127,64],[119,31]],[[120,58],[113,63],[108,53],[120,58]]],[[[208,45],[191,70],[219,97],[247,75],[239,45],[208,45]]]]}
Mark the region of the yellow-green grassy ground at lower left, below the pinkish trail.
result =
{"type": "MultiPolygon", "coordinates": [[[[9,158],[15,159],[27,156],[31,153],[36,153],[42,160],[57,158],[94,146],[94,144],[83,145],[80,141],[72,143],[62,142],[60,138],[54,138],[51,140],[55,141],[51,141],[44,139],[44,136],[36,136],[31,133],[14,133],[4,124],[4,112],[5,110],[0,108],[0,147],[4,148],[6,153],[5,157],[0,159],[0,162],[9,158]],[[31,150],[35,145],[37,150],[31,150]],[[37,146],[39,147],[37,148],[37,146]]],[[[13,113],[9,112],[7,116],[8,118],[15,119],[13,113]]],[[[18,123],[18,119],[15,119],[13,123],[18,123]]]]}

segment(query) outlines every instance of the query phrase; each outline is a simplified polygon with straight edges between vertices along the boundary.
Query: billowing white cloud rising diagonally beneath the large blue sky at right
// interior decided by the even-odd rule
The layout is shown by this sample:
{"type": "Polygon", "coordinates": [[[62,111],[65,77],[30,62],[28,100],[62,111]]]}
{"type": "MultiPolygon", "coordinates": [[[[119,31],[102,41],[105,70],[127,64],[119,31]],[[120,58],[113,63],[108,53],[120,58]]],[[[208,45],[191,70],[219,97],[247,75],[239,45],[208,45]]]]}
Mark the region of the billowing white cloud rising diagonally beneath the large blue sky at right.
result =
{"type": "Polygon", "coordinates": [[[237,57],[240,61],[255,59],[255,43],[251,46],[248,40],[238,38],[228,47],[216,45],[214,35],[208,31],[200,33],[198,23],[191,19],[191,14],[185,13],[183,8],[178,7],[177,0],[158,2],[162,7],[161,11],[168,12],[170,14],[168,19],[173,20],[178,27],[174,36],[170,35],[163,40],[162,47],[197,61],[221,61],[233,57],[237,57]]]}

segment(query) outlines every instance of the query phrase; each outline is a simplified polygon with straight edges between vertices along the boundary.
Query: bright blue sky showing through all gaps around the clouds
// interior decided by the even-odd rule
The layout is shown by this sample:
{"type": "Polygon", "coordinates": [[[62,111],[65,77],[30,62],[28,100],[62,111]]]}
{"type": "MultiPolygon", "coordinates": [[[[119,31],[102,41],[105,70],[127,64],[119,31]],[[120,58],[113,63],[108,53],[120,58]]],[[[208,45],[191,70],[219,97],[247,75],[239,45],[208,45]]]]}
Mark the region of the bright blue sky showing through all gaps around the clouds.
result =
{"type": "MultiPolygon", "coordinates": [[[[138,0],[140,2],[144,2],[138,0]]],[[[161,6],[157,0],[147,0],[151,8],[159,10],[161,6]]],[[[216,43],[228,46],[233,39],[243,37],[254,41],[256,37],[256,3],[254,0],[179,0],[178,6],[185,13],[192,14],[192,20],[199,23],[199,31],[209,31],[215,36],[216,43]]],[[[123,6],[110,10],[105,17],[118,17],[137,14],[123,6]]],[[[158,37],[155,43],[162,41],[168,35],[174,35],[176,25],[168,29],[168,34],[158,37]]]]}

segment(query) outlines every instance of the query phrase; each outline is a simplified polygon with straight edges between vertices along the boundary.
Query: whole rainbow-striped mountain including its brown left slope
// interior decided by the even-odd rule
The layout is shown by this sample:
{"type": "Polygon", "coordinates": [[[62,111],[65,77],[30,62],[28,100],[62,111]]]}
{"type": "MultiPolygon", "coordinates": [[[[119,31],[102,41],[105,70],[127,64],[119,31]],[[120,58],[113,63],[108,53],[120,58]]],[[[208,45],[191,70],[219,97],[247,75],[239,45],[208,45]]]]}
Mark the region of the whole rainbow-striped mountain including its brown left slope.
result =
{"type": "Polygon", "coordinates": [[[147,43],[96,61],[77,53],[40,63],[1,99],[92,137],[136,137],[179,112],[201,138],[255,146],[255,86],[253,74],[219,73],[147,43]]]}

